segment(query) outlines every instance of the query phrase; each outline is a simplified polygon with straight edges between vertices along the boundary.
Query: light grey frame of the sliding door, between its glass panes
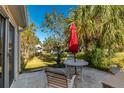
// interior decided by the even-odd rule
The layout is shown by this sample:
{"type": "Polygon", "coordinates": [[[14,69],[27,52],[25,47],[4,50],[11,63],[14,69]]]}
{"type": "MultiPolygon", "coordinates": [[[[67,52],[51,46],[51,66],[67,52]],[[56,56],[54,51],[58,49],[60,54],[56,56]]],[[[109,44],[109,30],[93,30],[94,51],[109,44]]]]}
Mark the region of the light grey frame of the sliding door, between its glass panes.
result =
{"type": "MultiPolygon", "coordinates": [[[[9,50],[8,50],[8,48],[9,48],[9,23],[11,23],[11,22],[9,21],[9,17],[7,15],[5,15],[5,13],[3,11],[1,11],[1,9],[0,9],[0,15],[3,18],[5,18],[5,31],[3,33],[3,35],[4,35],[3,36],[3,40],[4,40],[4,42],[3,42],[3,62],[2,62],[3,87],[9,88],[10,86],[9,86],[9,50]]],[[[15,39],[15,30],[14,30],[14,39],[15,39]]],[[[14,40],[13,46],[15,48],[15,40],[14,40]]],[[[13,49],[13,53],[14,53],[13,56],[15,56],[15,49],[13,49]]],[[[14,61],[14,65],[15,65],[15,60],[13,60],[13,61],[14,61]]],[[[14,67],[14,71],[15,71],[15,67],[14,67]]]]}

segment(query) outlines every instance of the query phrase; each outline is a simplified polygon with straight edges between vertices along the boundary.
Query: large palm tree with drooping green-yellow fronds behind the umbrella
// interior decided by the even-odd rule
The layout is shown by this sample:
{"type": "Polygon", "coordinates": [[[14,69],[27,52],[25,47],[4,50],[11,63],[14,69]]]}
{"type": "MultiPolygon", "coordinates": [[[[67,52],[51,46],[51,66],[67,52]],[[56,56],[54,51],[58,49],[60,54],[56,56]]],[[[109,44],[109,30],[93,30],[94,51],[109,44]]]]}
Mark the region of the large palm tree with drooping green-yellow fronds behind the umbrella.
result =
{"type": "Polygon", "coordinates": [[[70,11],[65,21],[75,22],[79,44],[85,53],[92,51],[94,45],[108,49],[108,53],[124,45],[123,6],[79,6],[70,11]]]}

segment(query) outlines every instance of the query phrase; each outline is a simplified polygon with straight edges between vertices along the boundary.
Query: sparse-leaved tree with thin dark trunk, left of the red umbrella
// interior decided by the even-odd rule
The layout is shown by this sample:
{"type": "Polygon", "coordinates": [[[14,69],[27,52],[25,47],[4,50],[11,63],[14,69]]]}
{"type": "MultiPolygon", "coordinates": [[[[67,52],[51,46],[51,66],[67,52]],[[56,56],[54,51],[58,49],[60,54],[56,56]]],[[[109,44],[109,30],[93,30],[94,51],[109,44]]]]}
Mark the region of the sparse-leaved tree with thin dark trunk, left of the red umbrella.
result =
{"type": "Polygon", "coordinates": [[[65,41],[64,27],[64,16],[62,13],[56,12],[56,10],[52,13],[46,13],[45,20],[41,24],[42,31],[49,32],[49,35],[56,41],[56,44],[53,43],[53,45],[58,51],[58,64],[60,63],[60,50],[65,41]]]}

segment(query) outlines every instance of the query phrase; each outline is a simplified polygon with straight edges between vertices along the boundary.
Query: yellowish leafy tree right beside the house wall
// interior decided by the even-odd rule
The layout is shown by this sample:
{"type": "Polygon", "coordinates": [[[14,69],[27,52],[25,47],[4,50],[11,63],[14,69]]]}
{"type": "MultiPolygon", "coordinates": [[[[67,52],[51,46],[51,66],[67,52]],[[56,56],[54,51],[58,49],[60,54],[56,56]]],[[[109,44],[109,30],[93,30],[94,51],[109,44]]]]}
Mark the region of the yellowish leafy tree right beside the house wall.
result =
{"type": "Polygon", "coordinates": [[[25,29],[25,31],[21,32],[21,57],[25,62],[35,54],[34,46],[40,43],[35,35],[35,29],[36,27],[32,23],[25,29]]]}

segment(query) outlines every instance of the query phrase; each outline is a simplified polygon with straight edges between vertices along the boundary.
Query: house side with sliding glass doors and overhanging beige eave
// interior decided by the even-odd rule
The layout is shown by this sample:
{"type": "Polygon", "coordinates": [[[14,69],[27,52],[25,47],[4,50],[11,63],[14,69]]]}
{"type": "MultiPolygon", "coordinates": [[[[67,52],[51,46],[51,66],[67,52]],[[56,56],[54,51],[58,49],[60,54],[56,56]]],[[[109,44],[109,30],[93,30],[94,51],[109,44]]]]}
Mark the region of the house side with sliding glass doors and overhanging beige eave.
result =
{"type": "Polygon", "coordinates": [[[0,5],[0,87],[11,87],[19,74],[19,33],[27,27],[25,6],[0,5]]]}

